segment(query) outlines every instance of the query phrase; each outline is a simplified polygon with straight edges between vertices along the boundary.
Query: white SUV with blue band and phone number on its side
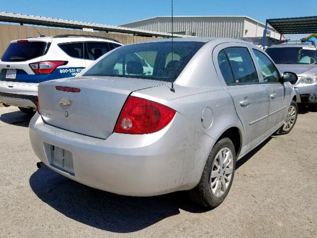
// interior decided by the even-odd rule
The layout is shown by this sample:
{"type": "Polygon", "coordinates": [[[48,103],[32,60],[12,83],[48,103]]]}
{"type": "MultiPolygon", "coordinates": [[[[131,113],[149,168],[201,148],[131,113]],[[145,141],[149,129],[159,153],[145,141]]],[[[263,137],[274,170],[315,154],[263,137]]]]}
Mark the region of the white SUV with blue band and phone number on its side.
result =
{"type": "Polygon", "coordinates": [[[0,60],[0,102],[33,115],[40,82],[75,76],[121,45],[115,40],[81,35],[11,41],[0,60]]]}

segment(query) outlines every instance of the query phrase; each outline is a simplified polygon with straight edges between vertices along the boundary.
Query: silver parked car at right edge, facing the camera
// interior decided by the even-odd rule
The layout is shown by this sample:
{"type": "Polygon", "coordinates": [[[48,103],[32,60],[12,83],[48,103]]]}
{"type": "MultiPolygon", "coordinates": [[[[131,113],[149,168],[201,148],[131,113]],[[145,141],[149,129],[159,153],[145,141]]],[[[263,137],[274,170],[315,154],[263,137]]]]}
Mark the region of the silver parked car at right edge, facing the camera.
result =
{"type": "Polygon", "coordinates": [[[315,44],[278,44],[266,49],[281,72],[292,71],[298,80],[292,82],[300,102],[317,108],[317,48],[315,44]]]}

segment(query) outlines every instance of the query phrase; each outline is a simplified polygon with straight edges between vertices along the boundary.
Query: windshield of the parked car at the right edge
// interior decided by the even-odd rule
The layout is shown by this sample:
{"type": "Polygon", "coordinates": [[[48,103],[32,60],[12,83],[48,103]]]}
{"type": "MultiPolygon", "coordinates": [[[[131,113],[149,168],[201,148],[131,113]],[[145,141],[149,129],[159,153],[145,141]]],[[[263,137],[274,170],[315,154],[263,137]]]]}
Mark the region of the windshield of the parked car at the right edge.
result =
{"type": "Polygon", "coordinates": [[[315,47],[276,47],[265,52],[278,64],[317,64],[315,47]]]}

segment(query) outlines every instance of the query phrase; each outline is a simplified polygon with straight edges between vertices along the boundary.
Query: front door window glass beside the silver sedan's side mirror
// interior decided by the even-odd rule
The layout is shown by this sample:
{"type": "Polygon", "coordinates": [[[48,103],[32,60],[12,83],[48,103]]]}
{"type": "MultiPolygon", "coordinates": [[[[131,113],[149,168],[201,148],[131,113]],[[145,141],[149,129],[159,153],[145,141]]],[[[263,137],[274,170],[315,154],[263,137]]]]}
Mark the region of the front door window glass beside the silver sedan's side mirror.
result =
{"type": "Polygon", "coordinates": [[[262,52],[253,50],[262,71],[264,82],[279,82],[279,73],[275,65],[262,52]]]}

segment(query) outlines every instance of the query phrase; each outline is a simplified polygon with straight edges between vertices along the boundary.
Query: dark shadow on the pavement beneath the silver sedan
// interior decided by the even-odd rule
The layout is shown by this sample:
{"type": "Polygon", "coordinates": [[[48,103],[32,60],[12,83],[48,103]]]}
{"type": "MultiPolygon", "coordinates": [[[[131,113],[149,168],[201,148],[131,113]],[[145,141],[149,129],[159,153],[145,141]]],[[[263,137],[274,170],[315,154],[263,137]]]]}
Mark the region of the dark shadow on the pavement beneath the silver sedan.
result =
{"type": "MultiPolygon", "coordinates": [[[[239,160],[237,168],[271,138],[239,160]]],[[[154,197],[121,196],[67,179],[48,167],[37,170],[30,178],[30,185],[42,201],[65,216],[88,226],[116,233],[142,230],[179,214],[179,209],[192,213],[210,211],[209,208],[189,200],[186,191],[154,197]]]]}

